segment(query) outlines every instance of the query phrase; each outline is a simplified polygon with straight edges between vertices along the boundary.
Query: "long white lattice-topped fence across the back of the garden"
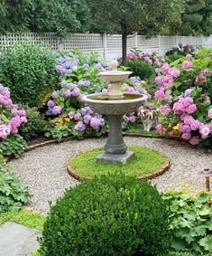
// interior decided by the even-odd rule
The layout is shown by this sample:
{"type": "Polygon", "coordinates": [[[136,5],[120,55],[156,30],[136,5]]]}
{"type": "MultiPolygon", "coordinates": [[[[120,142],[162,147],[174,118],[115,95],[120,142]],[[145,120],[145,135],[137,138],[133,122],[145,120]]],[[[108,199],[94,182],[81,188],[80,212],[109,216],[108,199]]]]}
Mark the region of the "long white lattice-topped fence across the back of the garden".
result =
{"type": "MultiPolygon", "coordinates": [[[[56,33],[8,33],[0,35],[0,45],[5,47],[30,41],[49,47],[52,51],[70,51],[77,47],[81,52],[99,52],[107,60],[120,58],[122,55],[122,36],[120,34],[73,33],[69,39],[61,42],[56,33]]],[[[145,35],[132,34],[127,38],[127,50],[137,47],[143,52],[158,52],[163,55],[179,43],[209,46],[212,35],[204,36],[163,36],[147,39],[145,35]]]]}

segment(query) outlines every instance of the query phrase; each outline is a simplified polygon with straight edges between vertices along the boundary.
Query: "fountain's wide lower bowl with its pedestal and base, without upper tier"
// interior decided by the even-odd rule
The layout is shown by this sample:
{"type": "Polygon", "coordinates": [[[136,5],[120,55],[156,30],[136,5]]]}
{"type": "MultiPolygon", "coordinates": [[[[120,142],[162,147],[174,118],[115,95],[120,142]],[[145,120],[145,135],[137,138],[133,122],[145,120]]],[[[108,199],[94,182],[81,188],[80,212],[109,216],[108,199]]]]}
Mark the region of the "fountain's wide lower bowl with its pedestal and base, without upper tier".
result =
{"type": "Polygon", "coordinates": [[[104,147],[105,152],[97,156],[99,162],[126,164],[134,157],[134,152],[127,151],[124,143],[122,119],[124,115],[139,109],[143,105],[143,101],[147,100],[147,97],[141,94],[123,94],[122,92],[120,94],[119,100],[111,100],[109,93],[90,94],[83,99],[91,109],[99,114],[106,115],[108,118],[108,138],[104,147]]]}

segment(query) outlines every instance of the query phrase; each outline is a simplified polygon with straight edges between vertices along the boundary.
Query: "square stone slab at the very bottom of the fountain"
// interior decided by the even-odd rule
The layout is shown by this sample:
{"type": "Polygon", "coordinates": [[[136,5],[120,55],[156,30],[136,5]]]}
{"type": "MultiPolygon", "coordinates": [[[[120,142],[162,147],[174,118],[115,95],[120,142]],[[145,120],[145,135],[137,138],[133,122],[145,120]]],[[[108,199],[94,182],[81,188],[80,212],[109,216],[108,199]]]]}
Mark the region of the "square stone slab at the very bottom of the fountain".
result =
{"type": "Polygon", "coordinates": [[[109,154],[104,152],[97,156],[97,161],[101,163],[126,164],[133,157],[134,152],[132,151],[126,151],[123,154],[109,154]]]}

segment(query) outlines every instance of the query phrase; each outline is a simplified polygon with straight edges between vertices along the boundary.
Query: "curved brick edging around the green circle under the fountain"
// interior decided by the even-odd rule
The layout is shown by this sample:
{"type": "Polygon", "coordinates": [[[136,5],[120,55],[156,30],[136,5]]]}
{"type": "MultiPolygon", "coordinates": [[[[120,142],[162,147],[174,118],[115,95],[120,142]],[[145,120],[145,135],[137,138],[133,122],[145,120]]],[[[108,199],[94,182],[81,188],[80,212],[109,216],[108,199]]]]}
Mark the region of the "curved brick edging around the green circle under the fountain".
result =
{"type": "MultiPolygon", "coordinates": [[[[152,149],[152,151],[155,151],[155,152],[159,153],[161,156],[164,156],[159,150],[152,149]]],[[[164,173],[166,173],[170,169],[171,162],[170,162],[170,159],[167,156],[164,156],[164,157],[166,158],[166,162],[165,162],[165,164],[163,164],[161,166],[161,168],[159,170],[157,170],[156,172],[154,172],[152,174],[139,175],[139,176],[137,176],[137,180],[143,181],[145,179],[153,179],[157,176],[160,176],[160,175],[163,175],[164,173]]],[[[90,176],[85,176],[83,178],[80,177],[80,175],[78,175],[78,173],[76,173],[76,171],[69,164],[67,165],[67,171],[68,171],[70,176],[77,179],[78,181],[82,181],[82,180],[83,181],[89,181],[89,180],[92,179],[92,177],[90,177],[90,176]]]]}

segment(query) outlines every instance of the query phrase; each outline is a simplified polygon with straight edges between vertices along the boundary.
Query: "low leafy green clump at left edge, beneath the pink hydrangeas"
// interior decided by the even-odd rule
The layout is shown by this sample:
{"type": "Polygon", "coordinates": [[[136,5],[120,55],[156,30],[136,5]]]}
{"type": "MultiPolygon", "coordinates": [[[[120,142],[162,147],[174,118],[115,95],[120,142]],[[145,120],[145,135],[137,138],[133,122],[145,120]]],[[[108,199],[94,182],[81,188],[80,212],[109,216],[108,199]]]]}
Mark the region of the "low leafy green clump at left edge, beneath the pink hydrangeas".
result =
{"type": "Polygon", "coordinates": [[[26,149],[26,142],[20,135],[10,135],[5,140],[0,141],[0,149],[4,156],[12,156],[15,158],[21,156],[26,149]]]}

